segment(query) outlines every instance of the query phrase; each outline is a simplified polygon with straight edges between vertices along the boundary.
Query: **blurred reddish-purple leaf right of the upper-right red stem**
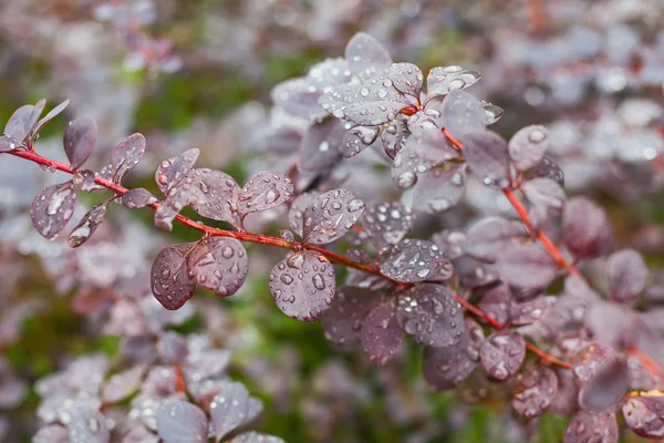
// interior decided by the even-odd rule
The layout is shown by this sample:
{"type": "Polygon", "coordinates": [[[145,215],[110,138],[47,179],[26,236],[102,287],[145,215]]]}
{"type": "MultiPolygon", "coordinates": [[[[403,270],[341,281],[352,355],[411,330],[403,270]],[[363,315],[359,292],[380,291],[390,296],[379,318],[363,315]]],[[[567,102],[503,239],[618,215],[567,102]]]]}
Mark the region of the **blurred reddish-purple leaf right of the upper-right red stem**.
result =
{"type": "Polygon", "coordinates": [[[577,259],[596,257],[613,244],[606,213],[585,197],[567,200],[562,212],[562,238],[577,259]]]}

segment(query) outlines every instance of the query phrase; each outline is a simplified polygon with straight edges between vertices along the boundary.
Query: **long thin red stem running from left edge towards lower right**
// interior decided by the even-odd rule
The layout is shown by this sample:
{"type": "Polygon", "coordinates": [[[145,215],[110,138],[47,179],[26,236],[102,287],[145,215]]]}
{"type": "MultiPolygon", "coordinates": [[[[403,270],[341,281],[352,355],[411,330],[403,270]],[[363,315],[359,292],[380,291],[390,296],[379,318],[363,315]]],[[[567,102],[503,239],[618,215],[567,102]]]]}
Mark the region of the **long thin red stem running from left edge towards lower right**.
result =
{"type": "MultiPolygon", "coordinates": [[[[51,158],[48,158],[48,157],[44,157],[42,155],[39,155],[34,151],[15,150],[15,151],[10,152],[10,154],[12,154],[17,157],[21,157],[21,158],[28,159],[30,162],[40,164],[40,165],[45,166],[51,169],[61,171],[66,174],[73,175],[76,173],[69,165],[58,162],[58,161],[54,161],[54,159],[51,159],[51,158]]],[[[111,181],[107,181],[107,179],[98,177],[98,176],[95,176],[94,182],[97,185],[103,186],[104,188],[106,188],[108,190],[112,190],[113,193],[115,193],[118,196],[124,195],[128,190],[124,186],[121,186],[118,184],[115,184],[111,181]]],[[[149,207],[152,207],[153,209],[157,209],[159,207],[159,204],[160,204],[160,202],[157,202],[157,203],[149,205],[149,207]]],[[[291,243],[288,243],[283,239],[281,239],[279,237],[272,237],[272,236],[267,236],[267,235],[261,235],[261,234],[253,234],[253,233],[249,233],[247,230],[226,230],[226,229],[214,228],[214,227],[204,225],[201,222],[195,222],[195,220],[193,220],[188,217],[185,217],[183,215],[179,215],[179,214],[175,217],[175,219],[185,226],[188,226],[193,229],[199,230],[209,236],[232,237],[232,238],[236,238],[241,241],[277,246],[277,247],[286,248],[286,249],[295,249],[295,248],[300,247],[300,248],[313,250],[313,251],[317,251],[317,253],[325,256],[331,262],[334,262],[336,265],[342,265],[347,268],[357,269],[357,270],[361,270],[366,274],[374,275],[376,277],[380,277],[384,280],[387,280],[387,281],[394,284],[398,289],[407,289],[413,286],[412,284],[404,284],[403,281],[394,280],[393,278],[390,278],[390,277],[383,275],[381,272],[380,268],[375,265],[357,262],[357,261],[351,260],[347,257],[329,251],[329,250],[320,248],[318,246],[312,246],[312,245],[307,245],[307,244],[294,245],[294,244],[291,244],[291,243]]],[[[502,323],[500,323],[498,320],[494,319],[492,317],[490,317],[489,315],[487,315],[486,312],[484,312],[481,309],[477,308],[476,306],[469,303],[467,300],[463,299],[461,297],[459,297],[457,295],[455,295],[454,297],[459,302],[459,305],[461,305],[466,310],[468,310],[474,316],[485,320],[488,324],[492,326],[496,329],[505,328],[505,326],[502,323]]],[[[571,368],[571,365],[569,363],[558,360],[557,358],[554,358],[552,356],[549,356],[548,353],[546,353],[544,351],[542,351],[535,344],[527,343],[527,348],[529,350],[531,350],[532,352],[535,352],[536,354],[540,356],[542,358],[542,360],[544,360],[549,363],[558,364],[566,369],[571,368]]]]}

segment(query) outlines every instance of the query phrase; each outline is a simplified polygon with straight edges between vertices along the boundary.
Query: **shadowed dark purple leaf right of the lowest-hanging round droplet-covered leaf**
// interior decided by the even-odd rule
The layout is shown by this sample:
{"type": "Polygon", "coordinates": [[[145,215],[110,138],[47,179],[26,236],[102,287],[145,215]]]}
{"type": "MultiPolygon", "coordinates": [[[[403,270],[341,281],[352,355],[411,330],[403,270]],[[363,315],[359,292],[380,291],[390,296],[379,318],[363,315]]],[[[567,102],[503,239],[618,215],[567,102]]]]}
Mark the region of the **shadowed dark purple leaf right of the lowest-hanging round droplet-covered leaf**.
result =
{"type": "Polygon", "coordinates": [[[340,347],[360,344],[364,318],[380,302],[380,292],[349,286],[341,288],[321,317],[325,338],[340,347]]]}

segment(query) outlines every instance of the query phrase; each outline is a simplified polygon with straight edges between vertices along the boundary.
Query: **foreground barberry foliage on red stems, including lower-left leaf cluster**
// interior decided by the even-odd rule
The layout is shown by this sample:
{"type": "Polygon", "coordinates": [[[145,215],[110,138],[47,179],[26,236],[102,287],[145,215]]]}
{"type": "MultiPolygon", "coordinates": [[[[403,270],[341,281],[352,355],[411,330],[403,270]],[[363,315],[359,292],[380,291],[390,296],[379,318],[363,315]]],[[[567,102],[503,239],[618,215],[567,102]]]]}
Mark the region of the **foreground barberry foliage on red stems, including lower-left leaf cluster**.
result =
{"type": "MultiPolygon", "coordinates": [[[[621,414],[636,434],[662,439],[664,338],[660,311],[640,303],[649,285],[643,258],[614,246],[600,205],[568,198],[544,126],[523,127],[509,141],[488,128],[504,111],[466,91],[480,78],[457,65],[425,76],[357,33],[343,58],[274,87],[276,109],[291,119],[270,122],[264,144],[290,155],[294,167],[258,172],[243,186],[196,167],[191,148],[160,163],[163,197],[127,189],[123,177],[141,162],[145,137],[129,135],[106,166],[87,169],[97,132],[89,117],[64,131],[69,164],[44,157],[35,150],[39,131],[66,102],[41,120],[44,101],[17,110],[0,152],[71,174],[32,204],[45,238],[68,226],[81,193],[107,190],[69,234],[71,247],[85,247],[113,203],[153,209],[159,230],[178,223],[199,231],[199,240],[164,248],[152,265],[149,286],[164,309],[184,309],[197,287],[232,296],[249,270],[242,243],[271,245],[287,250],[269,274],[274,303],[294,320],[320,319],[340,348],[359,347],[382,365],[407,337],[422,347],[432,388],[490,385],[477,391],[479,400],[509,398],[525,419],[548,410],[569,415],[566,443],[616,442],[621,414]],[[334,174],[365,155],[390,168],[401,197],[364,202],[362,189],[334,174]],[[465,229],[417,238],[416,222],[463,205],[470,184],[509,202],[511,215],[468,216],[465,229]],[[280,237],[246,229],[249,214],[281,205],[289,210],[280,237]],[[185,217],[187,206],[231,228],[185,217]],[[596,264],[604,279],[591,285],[584,270],[596,264]],[[339,268],[347,269],[343,278],[339,268]]],[[[225,351],[155,324],[137,337],[126,343],[128,362],[90,357],[40,383],[44,426],[35,441],[105,442],[112,432],[142,442],[280,441],[238,431],[262,403],[228,379],[225,351]],[[129,406],[123,403],[137,391],[129,406]],[[108,405],[128,414],[125,429],[108,429],[108,405]]]]}

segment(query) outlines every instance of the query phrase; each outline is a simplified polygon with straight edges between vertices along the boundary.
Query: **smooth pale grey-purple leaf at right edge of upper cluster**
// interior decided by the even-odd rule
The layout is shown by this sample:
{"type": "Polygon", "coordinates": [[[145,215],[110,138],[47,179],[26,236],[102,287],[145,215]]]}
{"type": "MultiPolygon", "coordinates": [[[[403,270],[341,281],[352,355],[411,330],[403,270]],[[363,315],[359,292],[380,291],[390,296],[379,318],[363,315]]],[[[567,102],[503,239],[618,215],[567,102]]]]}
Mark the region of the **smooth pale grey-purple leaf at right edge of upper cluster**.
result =
{"type": "Polygon", "coordinates": [[[481,131],[486,127],[485,110],[475,95],[464,91],[453,91],[443,100],[440,111],[443,126],[456,138],[467,132],[481,131]]]}

